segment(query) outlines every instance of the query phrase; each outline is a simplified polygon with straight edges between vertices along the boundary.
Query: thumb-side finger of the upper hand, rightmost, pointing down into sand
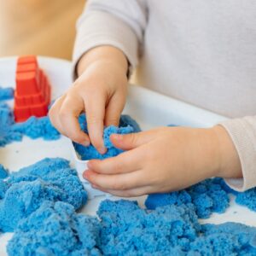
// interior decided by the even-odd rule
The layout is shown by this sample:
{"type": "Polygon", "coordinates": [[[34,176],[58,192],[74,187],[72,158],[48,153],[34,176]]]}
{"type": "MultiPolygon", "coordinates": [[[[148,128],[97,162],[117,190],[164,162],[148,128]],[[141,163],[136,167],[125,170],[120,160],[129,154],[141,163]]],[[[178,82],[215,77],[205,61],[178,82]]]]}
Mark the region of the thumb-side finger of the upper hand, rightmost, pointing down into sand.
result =
{"type": "Polygon", "coordinates": [[[115,94],[108,102],[108,107],[105,113],[105,125],[115,125],[119,126],[120,115],[125,106],[125,96],[122,94],[115,94]]]}

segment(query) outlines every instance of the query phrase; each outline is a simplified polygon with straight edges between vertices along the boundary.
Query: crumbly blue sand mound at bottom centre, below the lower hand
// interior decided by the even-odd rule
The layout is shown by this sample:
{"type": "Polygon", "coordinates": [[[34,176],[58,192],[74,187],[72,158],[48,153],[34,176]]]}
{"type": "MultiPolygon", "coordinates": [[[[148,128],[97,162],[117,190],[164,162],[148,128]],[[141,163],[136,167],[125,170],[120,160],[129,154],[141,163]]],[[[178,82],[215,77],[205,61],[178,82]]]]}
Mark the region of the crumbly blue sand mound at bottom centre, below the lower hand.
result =
{"type": "Polygon", "coordinates": [[[201,229],[193,208],[184,205],[146,211],[135,201],[107,200],[97,214],[104,255],[180,255],[201,229]]]}

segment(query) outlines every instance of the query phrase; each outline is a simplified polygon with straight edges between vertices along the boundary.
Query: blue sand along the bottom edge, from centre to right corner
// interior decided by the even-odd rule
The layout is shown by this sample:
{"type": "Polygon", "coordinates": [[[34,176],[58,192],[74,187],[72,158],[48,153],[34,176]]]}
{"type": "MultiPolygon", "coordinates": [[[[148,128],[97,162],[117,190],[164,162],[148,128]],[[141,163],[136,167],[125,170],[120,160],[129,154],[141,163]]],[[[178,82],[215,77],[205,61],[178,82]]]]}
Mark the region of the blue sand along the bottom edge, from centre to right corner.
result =
{"type": "Polygon", "coordinates": [[[255,255],[256,228],[198,222],[193,207],[145,211],[132,201],[103,201],[100,248],[106,255],[255,255]]]}

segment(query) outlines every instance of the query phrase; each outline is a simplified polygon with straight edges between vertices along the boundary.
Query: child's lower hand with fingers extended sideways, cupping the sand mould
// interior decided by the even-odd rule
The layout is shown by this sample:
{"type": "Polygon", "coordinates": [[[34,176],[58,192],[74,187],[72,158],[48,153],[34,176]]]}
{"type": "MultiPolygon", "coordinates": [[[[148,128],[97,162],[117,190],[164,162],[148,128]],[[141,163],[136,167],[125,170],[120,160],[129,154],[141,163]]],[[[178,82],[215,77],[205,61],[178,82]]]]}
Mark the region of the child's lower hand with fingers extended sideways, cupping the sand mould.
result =
{"type": "Polygon", "coordinates": [[[164,127],[113,135],[118,148],[131,149],[107,160],[90,160],[84,177],[96,189],[137,196],[188,187],[208,177],[241,177],[236,149],[222,126],[164,127]]]}

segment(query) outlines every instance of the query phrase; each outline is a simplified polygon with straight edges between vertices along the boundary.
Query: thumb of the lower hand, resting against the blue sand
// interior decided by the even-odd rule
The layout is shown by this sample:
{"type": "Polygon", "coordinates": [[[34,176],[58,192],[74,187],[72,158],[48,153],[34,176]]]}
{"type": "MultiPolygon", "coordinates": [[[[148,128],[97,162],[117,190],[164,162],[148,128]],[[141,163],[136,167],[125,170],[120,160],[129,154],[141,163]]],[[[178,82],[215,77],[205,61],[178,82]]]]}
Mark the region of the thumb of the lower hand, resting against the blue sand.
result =
{"type": "Polygon", "coordinates": [[[145,143],[150,142],[154,139],[154,132],[152,131],[141,131],[130,134],[113,134],[110,137],[111,142],[116,148],[123,150],[130,150],[137,148],[145,143]]]}

